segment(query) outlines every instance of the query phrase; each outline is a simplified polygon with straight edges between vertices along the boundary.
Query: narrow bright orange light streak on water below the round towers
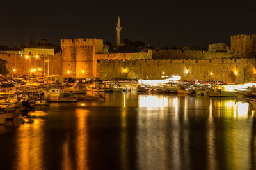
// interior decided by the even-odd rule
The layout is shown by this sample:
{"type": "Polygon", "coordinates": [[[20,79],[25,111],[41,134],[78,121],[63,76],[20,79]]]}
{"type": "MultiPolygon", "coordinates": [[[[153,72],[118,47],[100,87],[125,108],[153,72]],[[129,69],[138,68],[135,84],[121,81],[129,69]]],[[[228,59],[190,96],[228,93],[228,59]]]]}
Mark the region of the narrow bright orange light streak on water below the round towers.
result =
{"type": "Polygon", "coordinates": [[[76,139],[76,161],[77,169],[88,169],[87,165],[87,117],[89,110],[76,109],[77,139],[76,139]]]}

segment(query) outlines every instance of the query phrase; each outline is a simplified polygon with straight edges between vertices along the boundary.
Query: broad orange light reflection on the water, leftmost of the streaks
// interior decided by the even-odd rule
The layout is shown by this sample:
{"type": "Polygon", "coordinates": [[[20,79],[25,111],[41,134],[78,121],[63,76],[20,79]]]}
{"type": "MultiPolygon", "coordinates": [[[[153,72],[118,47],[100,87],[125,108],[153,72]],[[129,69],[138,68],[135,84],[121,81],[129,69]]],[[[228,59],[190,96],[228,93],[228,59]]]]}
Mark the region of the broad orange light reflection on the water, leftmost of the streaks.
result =
{"type": "Polygon", "coordinates": [[[43,122],[20,125],[17,132],[17,168],[42,169],[42,126],[43,122]]]}

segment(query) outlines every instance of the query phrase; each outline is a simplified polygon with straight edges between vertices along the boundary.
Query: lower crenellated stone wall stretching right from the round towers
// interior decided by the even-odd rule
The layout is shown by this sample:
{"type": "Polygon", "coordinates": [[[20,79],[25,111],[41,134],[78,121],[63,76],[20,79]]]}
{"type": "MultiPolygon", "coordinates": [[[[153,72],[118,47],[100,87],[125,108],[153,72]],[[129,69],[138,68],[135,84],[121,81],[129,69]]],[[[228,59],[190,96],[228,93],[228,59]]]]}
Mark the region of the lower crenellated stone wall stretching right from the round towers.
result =
{"type": "Polygon", "coordinates": [[[102,79],[160,78],[164,72],[165,76],[181,76],[182,80],[186,81],[242,83],[256,80],[255,59],[249,58],[126,60],[125,62],[123,60],[100,60],[97,63],[97,70],[99,78],[102,79]]]}

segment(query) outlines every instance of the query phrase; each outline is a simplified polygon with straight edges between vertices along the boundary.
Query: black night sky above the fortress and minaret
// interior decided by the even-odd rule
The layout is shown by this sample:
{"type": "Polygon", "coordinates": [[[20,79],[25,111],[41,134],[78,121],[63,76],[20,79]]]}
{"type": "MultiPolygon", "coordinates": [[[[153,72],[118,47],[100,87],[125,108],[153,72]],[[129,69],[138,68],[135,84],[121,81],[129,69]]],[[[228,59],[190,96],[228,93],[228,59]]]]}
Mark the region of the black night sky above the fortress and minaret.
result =
{"type": "MultiPolygon", "coordinates": [[[[4,1],[4,0],[3,0],[4,1]]],[[[0,44],[49,39],[121,38],[154,47],[230,43],[234,34],[256,33],[256,1],[8,1],[0,2],[0,44]]]]}

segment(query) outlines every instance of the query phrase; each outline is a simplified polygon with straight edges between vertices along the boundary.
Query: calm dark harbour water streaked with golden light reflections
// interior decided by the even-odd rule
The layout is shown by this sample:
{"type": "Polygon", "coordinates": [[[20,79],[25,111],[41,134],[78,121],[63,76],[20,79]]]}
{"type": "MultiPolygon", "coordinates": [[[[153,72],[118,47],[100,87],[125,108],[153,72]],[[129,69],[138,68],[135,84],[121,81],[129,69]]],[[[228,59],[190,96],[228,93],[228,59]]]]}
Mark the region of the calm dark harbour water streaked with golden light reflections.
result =
{"type": "Polygon", "coordinates": [[[1,169],[256,169],[256,118],[248,103],[105,96],[36,108],[33,124],[0,125],[1,169]]]}

